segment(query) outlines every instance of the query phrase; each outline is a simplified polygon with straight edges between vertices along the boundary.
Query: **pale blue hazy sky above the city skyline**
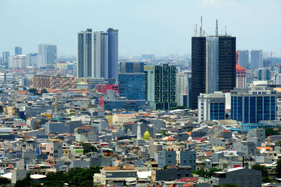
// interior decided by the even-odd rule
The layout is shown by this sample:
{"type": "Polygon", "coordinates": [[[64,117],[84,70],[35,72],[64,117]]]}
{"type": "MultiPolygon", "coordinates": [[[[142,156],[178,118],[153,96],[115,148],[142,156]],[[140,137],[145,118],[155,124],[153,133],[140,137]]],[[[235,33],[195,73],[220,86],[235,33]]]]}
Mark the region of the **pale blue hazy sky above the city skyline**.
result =
{"type": "Polygon", "coordinates": [[[237,37],[237,49],[280,55],[281,0],[0,0],[0,52],[58,46],[58,55],[77,54],[77,32],[119,29],[119,55],[190,53],[195,23],[214,34],[237,37]],[[223,32],[222,32],[223,30],[223,32]]]}

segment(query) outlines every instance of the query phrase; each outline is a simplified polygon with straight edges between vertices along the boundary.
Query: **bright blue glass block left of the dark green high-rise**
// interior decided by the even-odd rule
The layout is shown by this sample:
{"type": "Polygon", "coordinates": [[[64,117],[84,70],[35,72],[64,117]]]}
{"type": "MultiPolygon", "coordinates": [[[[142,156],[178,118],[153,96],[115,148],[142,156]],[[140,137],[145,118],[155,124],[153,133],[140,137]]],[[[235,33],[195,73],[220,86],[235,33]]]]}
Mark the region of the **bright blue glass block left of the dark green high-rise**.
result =
{"type": "Polygon", "coordinates": [[[119,95],[127,99],[145,99],[143,62],[121,62],[118,75],[119,95]]]}

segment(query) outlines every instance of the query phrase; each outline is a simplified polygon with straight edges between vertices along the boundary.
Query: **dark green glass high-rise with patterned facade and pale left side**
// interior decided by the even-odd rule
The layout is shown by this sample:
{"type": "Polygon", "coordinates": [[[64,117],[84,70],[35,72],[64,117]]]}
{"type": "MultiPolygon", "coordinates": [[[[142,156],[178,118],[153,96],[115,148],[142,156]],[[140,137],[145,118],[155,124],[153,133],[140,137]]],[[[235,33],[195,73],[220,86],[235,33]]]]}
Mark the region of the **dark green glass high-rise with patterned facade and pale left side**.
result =
{"type": "Polygon", "coordinates": [[[176,106],[176,66],[145,66],[145,99],[150,108],[172,109],[176,106]]]}

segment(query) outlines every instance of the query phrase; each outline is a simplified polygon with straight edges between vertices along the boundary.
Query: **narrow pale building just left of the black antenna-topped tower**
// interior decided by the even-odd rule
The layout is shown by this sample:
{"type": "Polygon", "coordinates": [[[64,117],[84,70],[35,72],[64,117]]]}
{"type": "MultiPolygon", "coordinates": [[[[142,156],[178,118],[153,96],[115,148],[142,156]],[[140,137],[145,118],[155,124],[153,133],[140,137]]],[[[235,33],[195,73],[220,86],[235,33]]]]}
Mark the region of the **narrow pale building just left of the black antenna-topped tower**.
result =
{"type": "Polygon", "coordinates": [[[176,103],[190,108],[191,73],[176,75],[176,103]]]}

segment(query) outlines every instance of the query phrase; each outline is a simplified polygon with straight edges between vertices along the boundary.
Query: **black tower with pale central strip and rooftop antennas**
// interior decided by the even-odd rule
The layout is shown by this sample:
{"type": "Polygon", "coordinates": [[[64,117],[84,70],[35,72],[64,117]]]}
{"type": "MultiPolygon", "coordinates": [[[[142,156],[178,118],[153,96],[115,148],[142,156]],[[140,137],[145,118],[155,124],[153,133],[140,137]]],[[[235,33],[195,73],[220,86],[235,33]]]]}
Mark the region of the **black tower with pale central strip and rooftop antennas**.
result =
{"type": "Polygon", "coordinates": [[[236,85],[236,38],[192,37],[191,108],[200,93],[229,92],[236,85]]]}

